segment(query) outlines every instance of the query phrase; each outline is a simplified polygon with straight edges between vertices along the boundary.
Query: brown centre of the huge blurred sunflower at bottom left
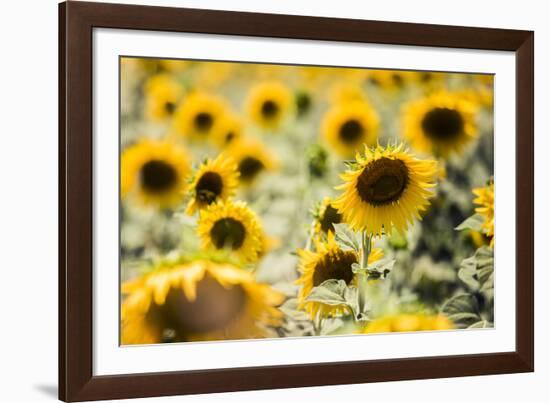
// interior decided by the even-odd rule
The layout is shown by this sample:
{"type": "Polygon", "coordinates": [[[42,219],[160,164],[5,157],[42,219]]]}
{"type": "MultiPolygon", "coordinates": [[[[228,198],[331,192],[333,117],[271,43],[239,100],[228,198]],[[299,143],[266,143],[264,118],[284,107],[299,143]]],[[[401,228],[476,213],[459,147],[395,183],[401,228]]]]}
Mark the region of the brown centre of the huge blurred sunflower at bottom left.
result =
{"type": "Polygon", "coordinates": [[[172,342],[189,335],[221,330],[239,317],[246,306],[241,286],[223,287],[206,275],[197,283],[197,298],[189,301],[181,289],[172,288],[164,305],[153,303],[146,320],[163,329],[172,342]]]}

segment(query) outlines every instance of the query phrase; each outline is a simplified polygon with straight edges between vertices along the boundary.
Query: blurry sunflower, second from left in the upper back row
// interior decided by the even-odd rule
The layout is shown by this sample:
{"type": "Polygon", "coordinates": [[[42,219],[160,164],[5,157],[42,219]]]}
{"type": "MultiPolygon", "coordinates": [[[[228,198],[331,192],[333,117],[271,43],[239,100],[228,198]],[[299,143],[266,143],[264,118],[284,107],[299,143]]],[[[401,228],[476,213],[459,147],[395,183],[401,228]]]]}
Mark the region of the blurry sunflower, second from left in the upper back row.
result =
{"type": "Polygon", "coordinates": [[[192,140],[215,141],[227,107],[218,97],[195,92],[176,109],[174,129],[192,140]]]}

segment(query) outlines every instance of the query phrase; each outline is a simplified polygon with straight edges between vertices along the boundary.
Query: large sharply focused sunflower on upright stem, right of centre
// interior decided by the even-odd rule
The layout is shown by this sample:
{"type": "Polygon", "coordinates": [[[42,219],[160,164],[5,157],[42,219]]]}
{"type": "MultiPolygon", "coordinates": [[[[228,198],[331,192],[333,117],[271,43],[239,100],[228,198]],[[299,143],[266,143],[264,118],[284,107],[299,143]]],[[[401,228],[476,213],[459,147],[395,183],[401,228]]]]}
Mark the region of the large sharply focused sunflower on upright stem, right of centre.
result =
{"type": "Polygon", "coordinates": [[[341,175],[343,193],[333,206],[353,229],[374,235],[406,230],[413,217],[429,205],[435,186],[437,161],[419,160],[403,145],[365,146],[353,166],[341,175]]]}

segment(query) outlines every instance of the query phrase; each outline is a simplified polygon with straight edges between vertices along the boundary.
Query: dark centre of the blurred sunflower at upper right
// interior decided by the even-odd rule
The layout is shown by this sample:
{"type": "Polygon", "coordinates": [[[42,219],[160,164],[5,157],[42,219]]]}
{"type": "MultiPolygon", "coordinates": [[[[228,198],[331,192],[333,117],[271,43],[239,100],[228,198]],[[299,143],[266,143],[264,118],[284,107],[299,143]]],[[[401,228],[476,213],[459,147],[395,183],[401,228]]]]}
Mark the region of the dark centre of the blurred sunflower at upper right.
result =
{"type": "Polygon", "coordinates": [[[464,119],[456,109],[435,108],[422,119],[422,130],[432,140],[453,140],[464,130],[464,119]]]}

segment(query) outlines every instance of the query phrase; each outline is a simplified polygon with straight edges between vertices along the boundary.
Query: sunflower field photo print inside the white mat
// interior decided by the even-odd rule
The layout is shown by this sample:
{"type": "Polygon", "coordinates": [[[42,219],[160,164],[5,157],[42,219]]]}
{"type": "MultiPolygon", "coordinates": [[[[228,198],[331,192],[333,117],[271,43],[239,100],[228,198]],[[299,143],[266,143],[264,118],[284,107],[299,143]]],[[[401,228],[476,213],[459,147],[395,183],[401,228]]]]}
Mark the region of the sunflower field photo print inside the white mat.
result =
{"type": "Polygon", "coordinates": [[[493,76],[120,59],[121,343],[487,328],[493,76]]]}

